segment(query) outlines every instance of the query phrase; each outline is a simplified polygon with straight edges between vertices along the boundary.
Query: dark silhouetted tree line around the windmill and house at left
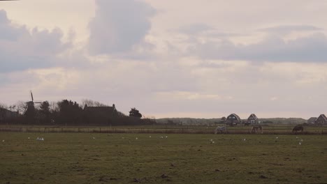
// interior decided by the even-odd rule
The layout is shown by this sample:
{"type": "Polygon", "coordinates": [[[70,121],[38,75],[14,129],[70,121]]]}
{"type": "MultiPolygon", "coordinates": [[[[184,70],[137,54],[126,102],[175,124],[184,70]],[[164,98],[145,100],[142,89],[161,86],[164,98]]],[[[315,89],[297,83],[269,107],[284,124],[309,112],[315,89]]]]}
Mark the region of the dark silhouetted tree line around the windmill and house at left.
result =
{"type": "Polygon", "coordinates": [[[119,112],[115,105],[108,106],[94,100],[82,100],[81,104],[72,100],[58,102],[17,102],[15,105],[0,103],[0,123],[20,125],[152,125],[154,118],[142,118],[135,107],[129,115],[119,112]],[[9,110],[10,112],[6,111],[9,110]],[[8,113],[17,112],[17,116],[8,113]]]}

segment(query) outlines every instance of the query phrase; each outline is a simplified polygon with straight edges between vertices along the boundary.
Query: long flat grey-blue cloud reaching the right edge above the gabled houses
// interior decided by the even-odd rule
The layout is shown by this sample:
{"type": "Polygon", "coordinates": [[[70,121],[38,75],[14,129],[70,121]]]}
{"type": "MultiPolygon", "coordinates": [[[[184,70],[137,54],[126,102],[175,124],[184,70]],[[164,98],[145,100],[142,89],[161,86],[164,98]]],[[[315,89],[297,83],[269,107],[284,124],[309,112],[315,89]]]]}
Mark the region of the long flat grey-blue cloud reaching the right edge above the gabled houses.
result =
{"type": "Polygon", "coordinates": [[[323,33],[284,41],[270,36],[256,44],[235,45],[228,39],[219,42],[196,43],[189,53],[203,59],[327,62],[327,38],[323,33]]]}

